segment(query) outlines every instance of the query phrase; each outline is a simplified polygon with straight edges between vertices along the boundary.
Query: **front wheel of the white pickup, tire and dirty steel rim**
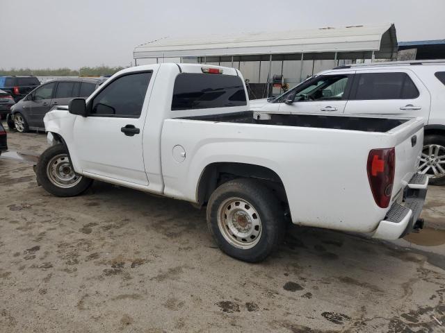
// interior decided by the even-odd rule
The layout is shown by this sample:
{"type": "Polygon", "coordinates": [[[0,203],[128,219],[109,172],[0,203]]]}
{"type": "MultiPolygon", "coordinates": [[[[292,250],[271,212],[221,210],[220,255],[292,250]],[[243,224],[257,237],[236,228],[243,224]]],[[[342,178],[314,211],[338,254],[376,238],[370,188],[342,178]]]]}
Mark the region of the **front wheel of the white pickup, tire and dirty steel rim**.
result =
{"type": "Polygon", "coordinates": [[[40,155],[35,173],[37,175],[38,184],[42,185],[44,189],[54,196],[78,196],[92,185],[92,179],[76,175],[74,171],[72,171],[69,155],[63,144],[51,146],[40,155]],[[49,166],[48,164],[51,165],[49,166]],[[56,167],[63,171],[65,171],[65,168],[66,170],[69,168],[70,172],[66,172],[65,174],[60,171],[57,173],[57,171],[54,171],[57,169],[56,167]],[[54,174],[63,174],[63,176],[67,176],[67,179],[70,179],[70,177],[74,178],[69,180],[68,185],[65,185],[64,187],[63,185],[60,185],[62,183],[61,181],[58,183],[57,177],[60,176],[53,176],[54,174]]]}

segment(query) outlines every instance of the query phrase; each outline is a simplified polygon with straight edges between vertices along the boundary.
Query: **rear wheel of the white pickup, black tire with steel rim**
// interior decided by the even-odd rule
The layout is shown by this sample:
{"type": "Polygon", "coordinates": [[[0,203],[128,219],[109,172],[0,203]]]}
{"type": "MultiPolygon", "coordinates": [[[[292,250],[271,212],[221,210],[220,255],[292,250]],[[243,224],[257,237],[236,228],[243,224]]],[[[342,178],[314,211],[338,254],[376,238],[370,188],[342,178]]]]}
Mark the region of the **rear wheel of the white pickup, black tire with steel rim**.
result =
{"type": "Polygon", "coordinates": [[[251,179],[218,187],[207,205],[207,225],[219,248],[245,262],[260,262],[284,237],[284,214],[272,191],[251,179]]]}

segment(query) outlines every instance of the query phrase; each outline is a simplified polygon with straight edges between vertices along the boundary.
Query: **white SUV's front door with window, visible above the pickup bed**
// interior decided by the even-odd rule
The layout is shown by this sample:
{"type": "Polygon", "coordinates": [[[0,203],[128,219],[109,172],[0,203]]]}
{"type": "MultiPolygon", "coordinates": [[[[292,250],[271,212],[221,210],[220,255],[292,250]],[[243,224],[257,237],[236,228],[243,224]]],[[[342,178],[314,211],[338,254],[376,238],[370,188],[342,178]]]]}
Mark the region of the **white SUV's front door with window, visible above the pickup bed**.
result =
{"type": "Polygon", "coordinates": [[[343,113],[352,80],[353,72],[318,76],[296,89],[293,103],[281,103],[280,113],[343,113]]]}

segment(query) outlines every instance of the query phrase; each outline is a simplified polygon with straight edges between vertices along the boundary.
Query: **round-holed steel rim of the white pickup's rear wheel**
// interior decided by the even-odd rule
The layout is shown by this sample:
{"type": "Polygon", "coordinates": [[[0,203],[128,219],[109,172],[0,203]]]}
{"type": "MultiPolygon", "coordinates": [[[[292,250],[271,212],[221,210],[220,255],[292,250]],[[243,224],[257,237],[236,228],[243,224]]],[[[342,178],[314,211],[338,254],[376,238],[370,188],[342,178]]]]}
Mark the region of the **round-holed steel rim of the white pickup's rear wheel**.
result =
{"type": "Polygon", "coordinates": [[[229,244],[242,250],[253,248],[261,239],[261,219],[247,200],[228,198],[218,208],[218,228],[229,244]]]}

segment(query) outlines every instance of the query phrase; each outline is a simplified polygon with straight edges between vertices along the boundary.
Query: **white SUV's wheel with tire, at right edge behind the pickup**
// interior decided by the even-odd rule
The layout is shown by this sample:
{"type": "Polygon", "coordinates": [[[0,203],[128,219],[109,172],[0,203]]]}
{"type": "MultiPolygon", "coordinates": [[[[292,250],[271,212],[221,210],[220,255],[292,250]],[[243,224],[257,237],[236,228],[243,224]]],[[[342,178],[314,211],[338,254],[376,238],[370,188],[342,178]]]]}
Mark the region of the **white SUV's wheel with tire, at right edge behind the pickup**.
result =
{"type": "Polygon", "coordinates": [[[427,135],[423,140],[423,150],[419,172],[430,176],[430,184],[445,184],[445,137],[427,135]]]}

